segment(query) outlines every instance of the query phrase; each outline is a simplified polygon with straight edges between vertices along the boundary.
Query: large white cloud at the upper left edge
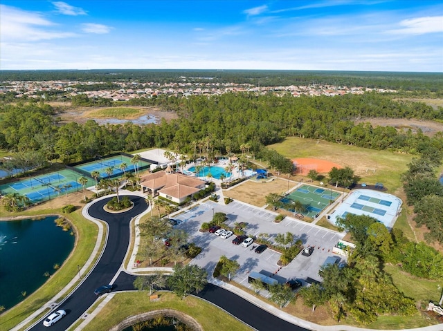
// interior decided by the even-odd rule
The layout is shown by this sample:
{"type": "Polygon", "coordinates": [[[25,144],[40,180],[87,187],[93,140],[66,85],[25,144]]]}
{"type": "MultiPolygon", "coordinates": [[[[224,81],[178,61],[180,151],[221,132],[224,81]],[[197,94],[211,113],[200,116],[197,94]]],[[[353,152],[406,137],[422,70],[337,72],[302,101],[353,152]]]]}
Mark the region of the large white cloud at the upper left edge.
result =
{"type": "Polygon", "coordinates": [[[51,30],[55,24],[37,12],[0,5],[0,38],[6,41],[38,41],[73,37],[75,33],[51,30]]]}

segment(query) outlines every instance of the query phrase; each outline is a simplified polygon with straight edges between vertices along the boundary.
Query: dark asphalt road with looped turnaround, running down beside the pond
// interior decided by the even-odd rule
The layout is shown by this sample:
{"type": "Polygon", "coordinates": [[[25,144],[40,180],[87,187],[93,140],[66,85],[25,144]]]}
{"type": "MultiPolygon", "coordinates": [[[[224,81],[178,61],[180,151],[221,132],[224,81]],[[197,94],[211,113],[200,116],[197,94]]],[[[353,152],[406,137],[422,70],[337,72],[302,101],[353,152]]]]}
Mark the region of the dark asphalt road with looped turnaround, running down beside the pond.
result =
{"type": "MultiPolygon", "coordinates": [[[[101,285],[109,284],[118,272],[129,245],[129,221],[147,209],[143,198],[139,196],[130,196],[130,198],[134,202],[134,207],[123,214],[111,214],[103,209],[111,198],[100,200],[89,207],[89,214],[92,217],[105,220],[109,225],[105,252],[80,287],[57,308],[66,310],[66,316],[55,323],[51,330],[66,330],[96,301],[94,290],[101,285]]],[[[120,290],[118,282],[115,286],[116,290],[120,290]]],[[[30,330],[48,329],[40,322],[30,330]]]]}

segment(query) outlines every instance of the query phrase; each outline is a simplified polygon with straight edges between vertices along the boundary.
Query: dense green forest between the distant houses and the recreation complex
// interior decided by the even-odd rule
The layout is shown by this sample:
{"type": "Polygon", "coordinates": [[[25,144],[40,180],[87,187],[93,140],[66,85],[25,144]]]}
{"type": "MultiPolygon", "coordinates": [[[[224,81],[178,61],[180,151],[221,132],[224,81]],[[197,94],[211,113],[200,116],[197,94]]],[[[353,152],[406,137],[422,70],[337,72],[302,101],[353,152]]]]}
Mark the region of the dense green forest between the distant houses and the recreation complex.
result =
{"type": "Polygon", "coordinates": [[[298,98],[226,93],[137,102],[174,111],[179,118],[146,126],[100,126],[92,120],[84,125],[58,124],[55,110],[43,102],[3,104],[0,148],[40,151],[48,160],[65,163],[148,147],[190,153],[202,140],[209,140],[212,149],[221,154],[240,151],[245,143],[257,153],[262,146],[288,135],[413,154],[424,146],[443,149],[443,133],[429,138],[421,132],[397,131],[390,126],[354,124],[354,120],[368,117],[443,120],[441,107],[435,110],[423,103],[395,102],[377,93],[298,98]]]}

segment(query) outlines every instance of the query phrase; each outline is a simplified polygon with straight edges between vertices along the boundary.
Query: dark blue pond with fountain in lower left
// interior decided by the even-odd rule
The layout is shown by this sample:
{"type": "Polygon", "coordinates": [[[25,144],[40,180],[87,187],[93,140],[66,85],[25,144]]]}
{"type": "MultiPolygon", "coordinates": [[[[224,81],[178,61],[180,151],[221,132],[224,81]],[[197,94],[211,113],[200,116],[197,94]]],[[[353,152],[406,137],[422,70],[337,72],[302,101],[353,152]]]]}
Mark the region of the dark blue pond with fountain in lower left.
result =
{"type": "Polygon", "coordinates": [[[57,227],[56,218],[0,222],[0,305],[6,310],[42,286],[71,253],[75,236],[57,227]]]}

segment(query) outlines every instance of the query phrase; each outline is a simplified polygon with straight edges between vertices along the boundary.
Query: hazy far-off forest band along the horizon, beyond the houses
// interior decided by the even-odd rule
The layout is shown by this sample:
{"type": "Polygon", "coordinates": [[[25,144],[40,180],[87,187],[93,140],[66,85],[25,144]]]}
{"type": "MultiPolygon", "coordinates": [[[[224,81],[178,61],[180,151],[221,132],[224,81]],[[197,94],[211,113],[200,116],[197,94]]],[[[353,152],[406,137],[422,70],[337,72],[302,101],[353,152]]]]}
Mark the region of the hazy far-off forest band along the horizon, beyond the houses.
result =
{"type": "Polygon", "coordinates": [[[0,70],[0,81],[204,82],[254,86],[329,84],[442,96],[442,73],[316,70],[0,70]]]}

